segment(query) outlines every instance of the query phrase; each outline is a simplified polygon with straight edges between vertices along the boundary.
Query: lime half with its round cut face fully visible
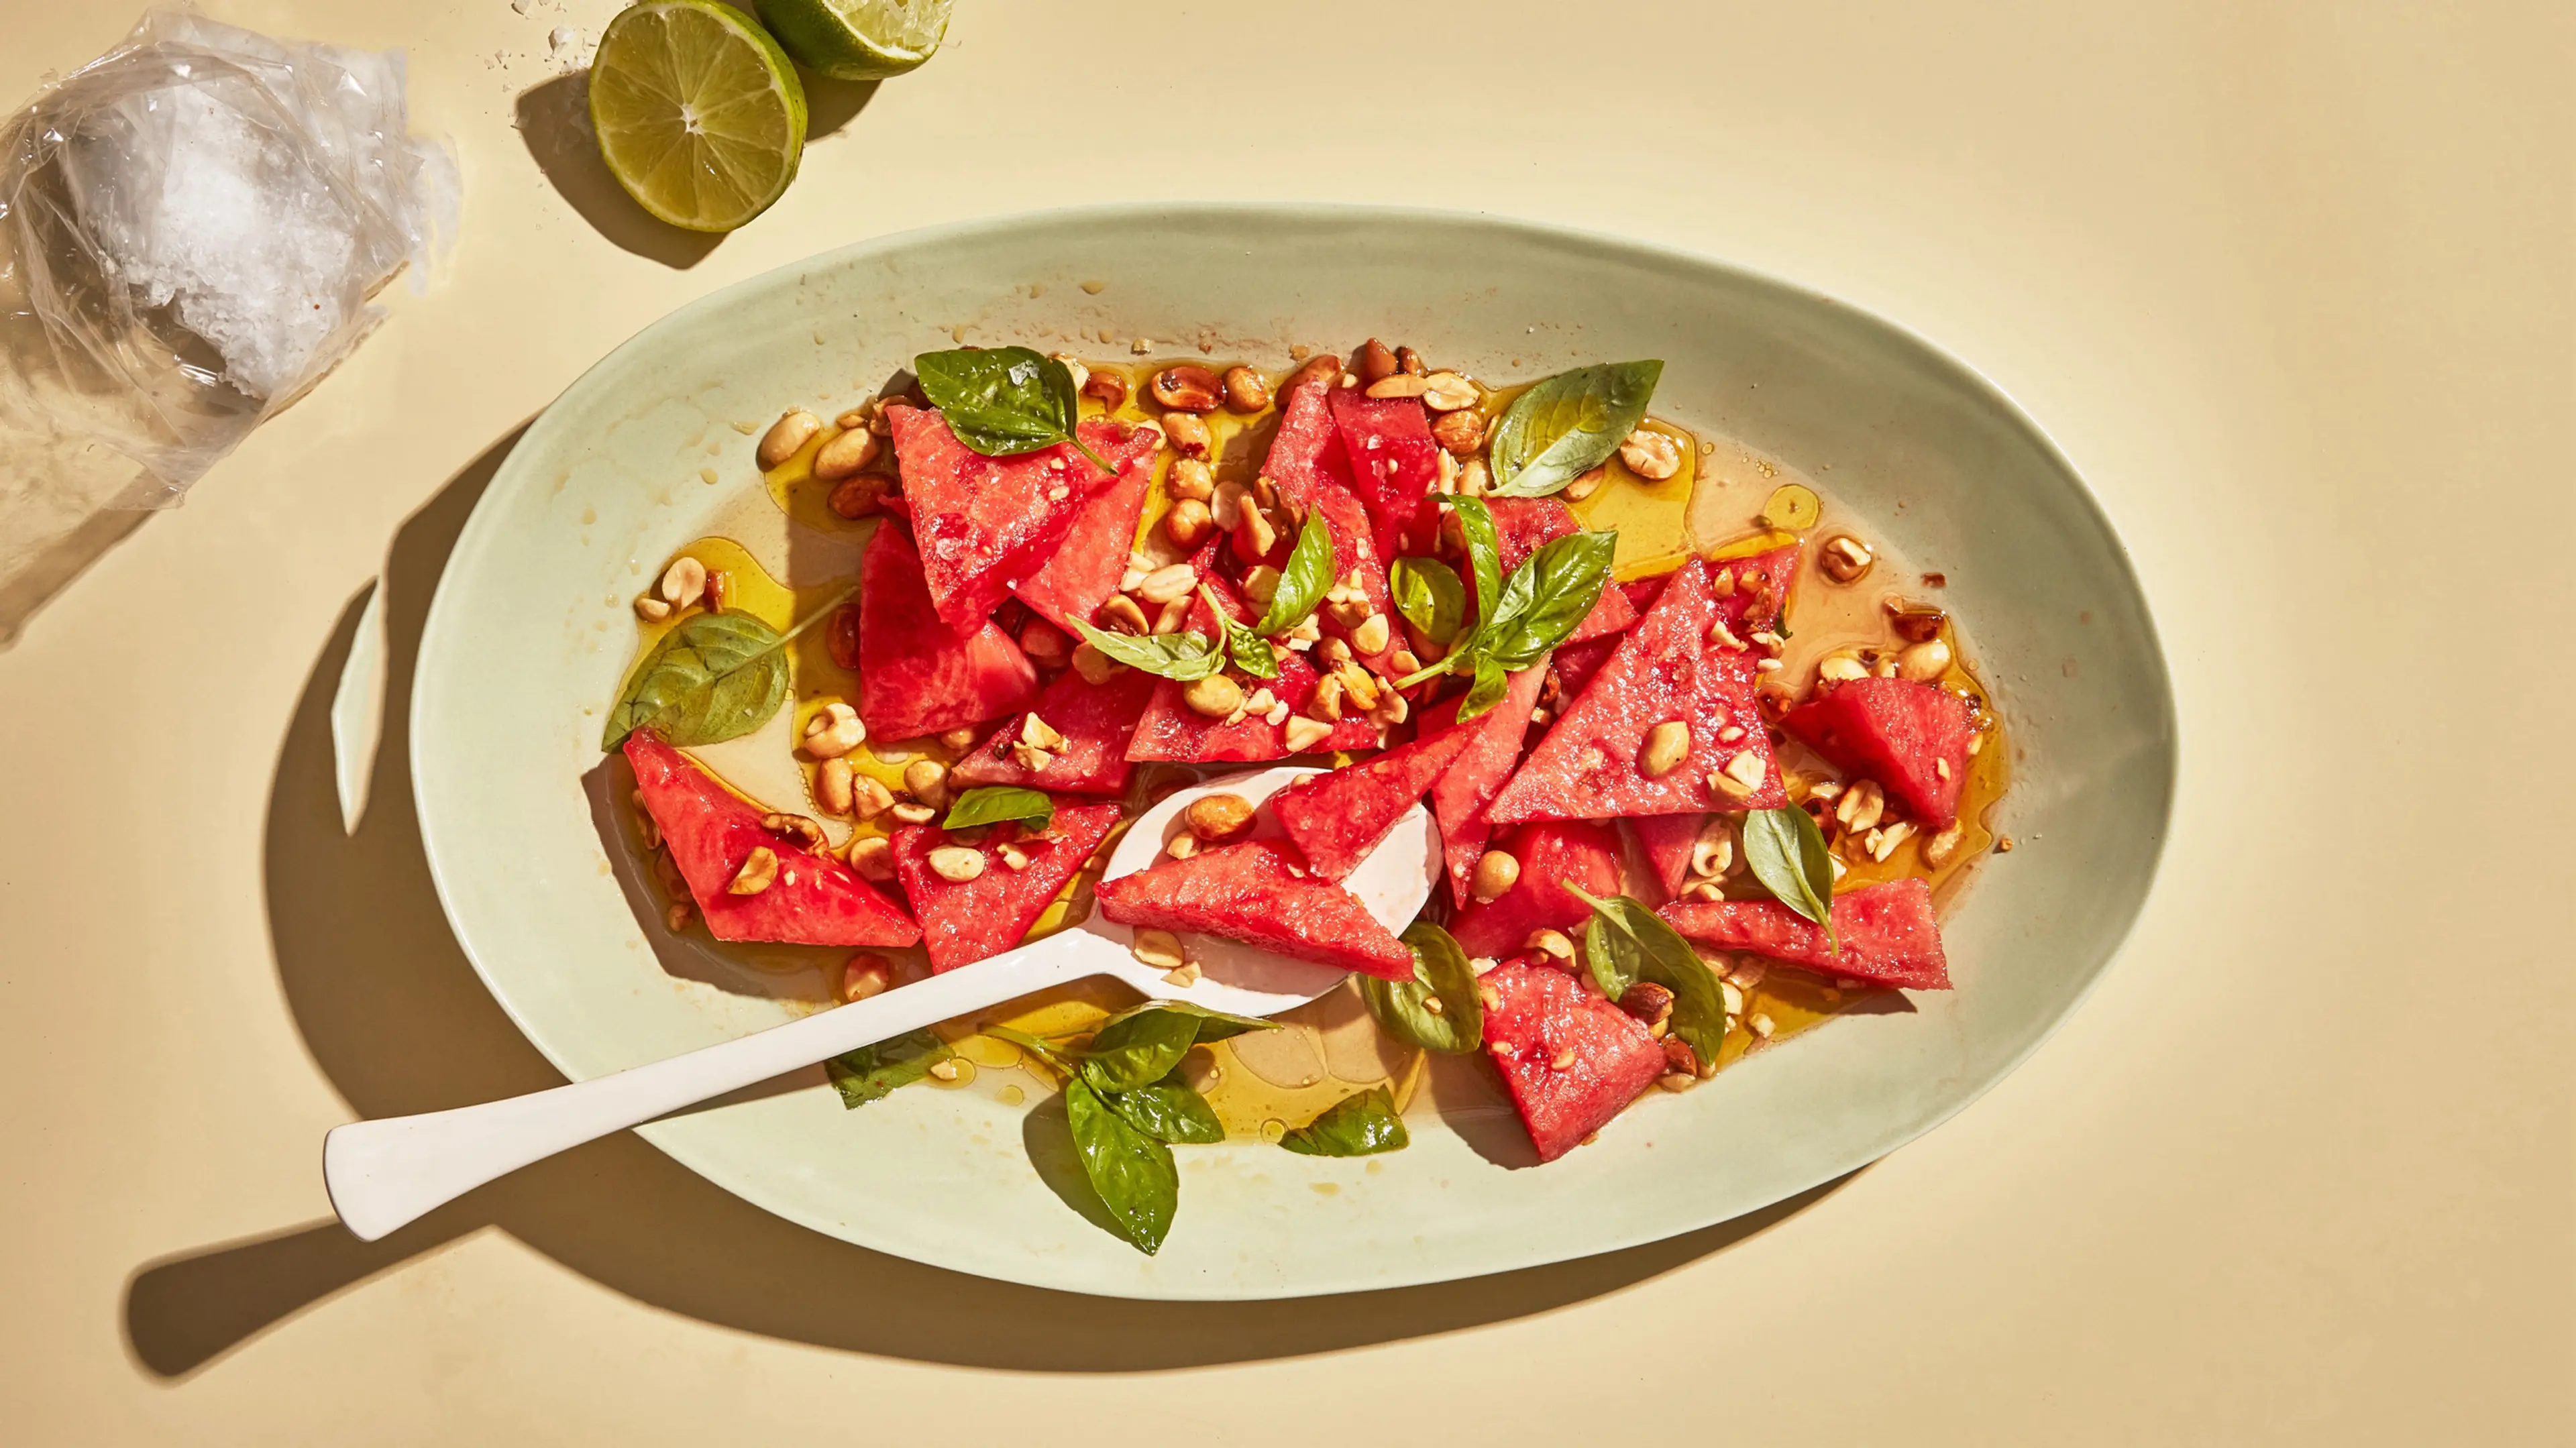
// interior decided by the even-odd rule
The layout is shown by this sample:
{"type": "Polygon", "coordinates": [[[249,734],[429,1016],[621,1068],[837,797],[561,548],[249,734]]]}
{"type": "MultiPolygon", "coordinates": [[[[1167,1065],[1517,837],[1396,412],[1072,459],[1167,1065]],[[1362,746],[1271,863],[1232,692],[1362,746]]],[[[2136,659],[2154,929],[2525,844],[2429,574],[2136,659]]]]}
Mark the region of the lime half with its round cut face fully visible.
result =
{"type": "Polygon", "coordinates": [[[690,232],[768,211],[796,180],[804,121],[786,52],[716,0],[631,5],[590,62],[600,160],[647,211],[690,232]]]}

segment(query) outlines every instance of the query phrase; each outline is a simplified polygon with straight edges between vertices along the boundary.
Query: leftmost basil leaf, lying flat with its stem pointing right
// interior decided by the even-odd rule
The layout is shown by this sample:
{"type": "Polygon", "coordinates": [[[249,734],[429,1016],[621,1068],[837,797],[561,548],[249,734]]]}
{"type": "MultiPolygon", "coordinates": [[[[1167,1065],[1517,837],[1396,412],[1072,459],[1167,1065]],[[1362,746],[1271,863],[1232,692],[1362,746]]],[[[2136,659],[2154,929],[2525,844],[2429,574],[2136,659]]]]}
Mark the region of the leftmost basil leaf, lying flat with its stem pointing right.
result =
{"type": "Polygon", "coordinates": [[[626,678],[600,752],[652,727],[670,745],[721,745],[770,721],[788,701],[788,644],[832,616],[858,587],[781,634],[750,613],[690,613],[626,678]]]}

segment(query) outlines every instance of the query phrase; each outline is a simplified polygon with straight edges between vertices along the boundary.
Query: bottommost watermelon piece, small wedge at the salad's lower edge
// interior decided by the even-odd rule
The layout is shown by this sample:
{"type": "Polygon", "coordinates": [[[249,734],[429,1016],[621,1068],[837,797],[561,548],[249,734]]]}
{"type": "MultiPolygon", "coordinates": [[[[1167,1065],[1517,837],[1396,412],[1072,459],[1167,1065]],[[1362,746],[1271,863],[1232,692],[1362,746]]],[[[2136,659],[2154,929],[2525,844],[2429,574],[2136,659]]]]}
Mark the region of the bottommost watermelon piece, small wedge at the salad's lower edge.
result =
{"type": "Polygon", "coordinates": [[[1646,1025],[1566,971],[1497,966],[1476,995],[1484,1049],[1540,1162],[1582,1147],[1664,1074],[1664,1046],[1646,1025]]]}

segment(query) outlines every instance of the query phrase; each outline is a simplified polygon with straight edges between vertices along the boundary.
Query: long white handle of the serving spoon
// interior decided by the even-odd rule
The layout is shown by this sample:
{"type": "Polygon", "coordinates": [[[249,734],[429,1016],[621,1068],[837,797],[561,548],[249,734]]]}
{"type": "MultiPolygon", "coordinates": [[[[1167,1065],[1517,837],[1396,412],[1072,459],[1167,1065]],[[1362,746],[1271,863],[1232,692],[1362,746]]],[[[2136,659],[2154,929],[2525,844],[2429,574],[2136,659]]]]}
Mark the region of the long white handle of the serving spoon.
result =
{"type": "Polygon", "coordinates": [[[353,1121],[322,1136],[322,1183],[340,1221],[374,1242],[433,1206],[582,1141],[935,1020],[1097,974],[1105,961],[1118,958],[1123,951],[1100,935],[1061,930],[969,969],[665,1062],[484,1105],[353,1121]]]}

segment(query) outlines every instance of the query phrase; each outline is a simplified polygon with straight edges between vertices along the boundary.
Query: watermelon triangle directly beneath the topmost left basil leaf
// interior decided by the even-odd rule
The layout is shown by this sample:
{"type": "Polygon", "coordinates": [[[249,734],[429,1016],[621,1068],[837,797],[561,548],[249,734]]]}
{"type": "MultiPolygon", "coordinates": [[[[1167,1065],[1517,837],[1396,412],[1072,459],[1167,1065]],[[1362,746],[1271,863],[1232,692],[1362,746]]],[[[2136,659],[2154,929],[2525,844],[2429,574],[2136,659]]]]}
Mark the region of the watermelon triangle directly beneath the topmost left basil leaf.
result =
{"type": "MultiPolygon", "coordinates": [[[[1012,459],[987,459],[948,430],[938,410],[886,407],[904,500],[920,531],[922,575],[948,629],[969,634],[1010,587],[1056,551],[1084,500],[1110,482],[1072,443],[1012,459]]],[[[1082,423],[1103,459],[1128,441],[1115,423],[1082,423]]],[[[1118,562],[1126,567],[1126,546],[1118,562]]]]}

